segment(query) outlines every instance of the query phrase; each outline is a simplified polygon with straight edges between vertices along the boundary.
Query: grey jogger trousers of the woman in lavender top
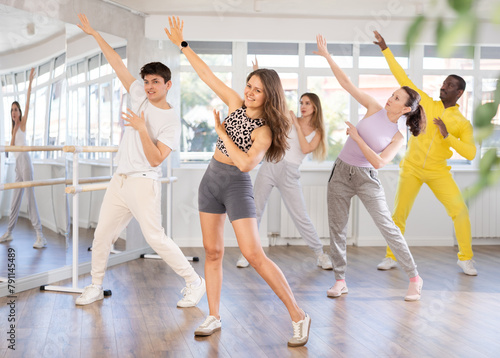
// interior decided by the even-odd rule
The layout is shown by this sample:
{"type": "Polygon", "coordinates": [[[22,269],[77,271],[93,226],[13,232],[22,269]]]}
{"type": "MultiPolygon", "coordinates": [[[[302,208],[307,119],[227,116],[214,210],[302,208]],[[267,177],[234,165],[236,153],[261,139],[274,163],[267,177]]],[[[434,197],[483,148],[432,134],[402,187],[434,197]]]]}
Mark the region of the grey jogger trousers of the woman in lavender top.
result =
{"type": "Polygon", "coordinates": [[[340,159],[335,161],[328,181],[328,223],[330,256],[335,279],[345,279],[347,267],[346,232],[351,198],[357,195],[387,241],[408,277],[418,275],[408,244],[394,224],[385,200],[384,188],[373,168],[355,167],[340,159]]]}

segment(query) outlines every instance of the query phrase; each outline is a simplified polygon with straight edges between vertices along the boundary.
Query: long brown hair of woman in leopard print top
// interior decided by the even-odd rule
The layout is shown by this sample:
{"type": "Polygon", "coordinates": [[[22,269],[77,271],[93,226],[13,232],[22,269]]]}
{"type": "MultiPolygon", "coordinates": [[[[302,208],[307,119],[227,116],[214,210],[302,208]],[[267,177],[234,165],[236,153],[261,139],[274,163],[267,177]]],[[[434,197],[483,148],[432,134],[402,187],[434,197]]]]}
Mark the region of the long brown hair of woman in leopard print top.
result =
{"type": "Polygon", "coordinates": [[[264,94],[266,95],[262,119],[264,119],[272,133],[271,146],[264,158],[268,162],[279,162],[288,149],[287,139],[291,126],[288,118],[285,91],[283,91],[281,80],[274,70],[259,68],[248,75],[247,82],[252,76],[259,77],[262,82],[264,94]]]}

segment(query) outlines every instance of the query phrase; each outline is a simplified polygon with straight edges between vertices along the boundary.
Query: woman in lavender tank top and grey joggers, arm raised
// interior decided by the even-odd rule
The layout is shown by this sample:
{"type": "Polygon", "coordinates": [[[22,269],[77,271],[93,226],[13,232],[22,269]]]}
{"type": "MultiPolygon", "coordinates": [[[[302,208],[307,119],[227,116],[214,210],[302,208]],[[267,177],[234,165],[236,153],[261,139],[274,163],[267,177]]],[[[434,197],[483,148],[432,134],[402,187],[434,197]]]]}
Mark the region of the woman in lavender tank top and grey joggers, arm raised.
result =
{"type": "Polygon", "coordinates": [[[340,297],[348,292],[345,282],[347,221],[351,198],[357,195],[410,278],[405,300],[417,301],[423,281],[401,231],[392,220],[377,169],[388,164],[403,145],[404,137],[397,124],[400,117],[406,117],[406,124],[414,136],[425,128],[420,96],[409,87],[402,87],[382,107],[375,98],[357,88],[335,63],[323,36],[317,36],[317,44],[315,53],[325,57],[340,85],[367,109],[357,126],[346,122],[349,137],[328,181],[330,256],[336,282],[327,295],[340,297]]]}

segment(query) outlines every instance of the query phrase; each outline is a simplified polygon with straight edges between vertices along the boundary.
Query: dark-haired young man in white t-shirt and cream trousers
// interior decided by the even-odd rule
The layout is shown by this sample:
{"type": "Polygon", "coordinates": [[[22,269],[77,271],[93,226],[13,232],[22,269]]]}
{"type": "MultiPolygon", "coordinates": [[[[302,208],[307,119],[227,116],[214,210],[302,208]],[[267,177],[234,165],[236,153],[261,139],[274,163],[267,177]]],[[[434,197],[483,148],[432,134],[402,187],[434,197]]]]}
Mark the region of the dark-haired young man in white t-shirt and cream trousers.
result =
{"type": "Polygon", "coordinates": [[[161,225],[161,163],[179,146],[180,120],[167,102],[172,87],[170,69],[152,62],[136,80],[111,46],[78,15],[86,34],[97,41],[104,56],[129,92],[132,109],[123,113],[125,133],[118,148],[116,169],[101,206],[92,244],[92,284],[76,299],[87,305],[103,299],[102,282],[112,244],[135,217],[148,244],[182,278],[186,287],[178,307],[193,307],[205,294],[205,280],[188,262],[179,247],[165,235],[161,225]]]}

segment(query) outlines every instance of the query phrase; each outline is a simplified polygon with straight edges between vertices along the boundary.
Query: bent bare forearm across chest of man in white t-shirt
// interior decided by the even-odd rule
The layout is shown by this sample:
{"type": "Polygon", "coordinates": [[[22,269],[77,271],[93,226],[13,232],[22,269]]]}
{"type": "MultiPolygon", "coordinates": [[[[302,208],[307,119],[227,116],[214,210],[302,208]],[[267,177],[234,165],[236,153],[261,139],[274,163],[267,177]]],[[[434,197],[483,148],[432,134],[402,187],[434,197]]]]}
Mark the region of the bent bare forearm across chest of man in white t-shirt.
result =
{"type": "Polygon", "coordinates": [[[152,167],[160,165],[165,158],[168,157],[172,149],[160,141],[157,141],[156,144],[153,143],[146,128],[144,112],[142,112],[139,117],[137,114],[132,112],[132,110],[127,109],[126,113],[122,112],[122,118],[125,120],[126,127],[132,127],[139,132],[142,149],[144,149],[144,154],[146,155],[146,159],[149,164],[151,164],[152,167]]]}

